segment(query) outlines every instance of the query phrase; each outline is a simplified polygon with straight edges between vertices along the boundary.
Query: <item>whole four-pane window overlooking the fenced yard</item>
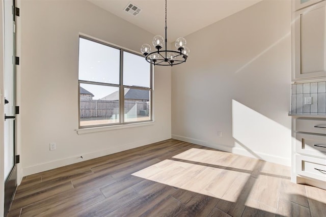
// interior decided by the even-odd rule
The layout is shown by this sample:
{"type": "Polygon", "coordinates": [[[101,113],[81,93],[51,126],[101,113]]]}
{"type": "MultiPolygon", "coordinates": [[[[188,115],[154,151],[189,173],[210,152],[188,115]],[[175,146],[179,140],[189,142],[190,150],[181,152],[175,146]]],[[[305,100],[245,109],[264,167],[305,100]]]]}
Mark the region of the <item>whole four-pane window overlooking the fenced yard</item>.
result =
{"type": "Polygon", "coordinates": [[[151,69],[139,54],[79,37],[79,128],[150,121],[151,69]]]}

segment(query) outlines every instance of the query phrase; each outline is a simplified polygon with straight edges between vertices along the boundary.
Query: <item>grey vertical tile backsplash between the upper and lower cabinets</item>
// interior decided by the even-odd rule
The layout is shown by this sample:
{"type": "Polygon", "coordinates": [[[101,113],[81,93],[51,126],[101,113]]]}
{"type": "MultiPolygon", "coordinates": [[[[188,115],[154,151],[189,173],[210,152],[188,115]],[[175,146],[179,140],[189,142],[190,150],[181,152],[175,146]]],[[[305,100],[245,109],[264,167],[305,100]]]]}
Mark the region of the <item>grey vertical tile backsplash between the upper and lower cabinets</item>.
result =
{"type": "Polygon", "coordinates": [[[326,113],[326,81],[292,84],[291,112],[326,113]],[[306,97],[311,105],[305,105],[306,97]]]}

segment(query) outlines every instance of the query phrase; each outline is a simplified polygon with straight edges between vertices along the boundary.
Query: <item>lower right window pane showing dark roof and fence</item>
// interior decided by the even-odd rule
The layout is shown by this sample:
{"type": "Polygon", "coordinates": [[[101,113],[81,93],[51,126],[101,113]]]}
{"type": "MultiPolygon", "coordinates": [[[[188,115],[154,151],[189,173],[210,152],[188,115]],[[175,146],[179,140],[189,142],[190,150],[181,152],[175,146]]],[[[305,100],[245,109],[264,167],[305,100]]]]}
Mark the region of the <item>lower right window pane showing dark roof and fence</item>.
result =
{"type": "Polygon", "coordinates": [[[150,120],[150,90],[124,88],[125,122],[150,120]]]}

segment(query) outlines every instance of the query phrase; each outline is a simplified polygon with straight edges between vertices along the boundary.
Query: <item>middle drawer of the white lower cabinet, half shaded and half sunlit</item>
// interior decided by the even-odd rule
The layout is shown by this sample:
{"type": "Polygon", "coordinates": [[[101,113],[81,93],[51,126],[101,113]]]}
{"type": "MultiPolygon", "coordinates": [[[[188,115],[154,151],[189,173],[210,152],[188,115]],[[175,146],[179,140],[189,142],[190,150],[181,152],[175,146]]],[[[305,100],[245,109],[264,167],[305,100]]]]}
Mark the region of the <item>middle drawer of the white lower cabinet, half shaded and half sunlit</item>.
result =
{"type": "Polygon", "coordinates": [[[326,158],[326,135],[296,133],[295,151],[311,156],[326,158]]]}

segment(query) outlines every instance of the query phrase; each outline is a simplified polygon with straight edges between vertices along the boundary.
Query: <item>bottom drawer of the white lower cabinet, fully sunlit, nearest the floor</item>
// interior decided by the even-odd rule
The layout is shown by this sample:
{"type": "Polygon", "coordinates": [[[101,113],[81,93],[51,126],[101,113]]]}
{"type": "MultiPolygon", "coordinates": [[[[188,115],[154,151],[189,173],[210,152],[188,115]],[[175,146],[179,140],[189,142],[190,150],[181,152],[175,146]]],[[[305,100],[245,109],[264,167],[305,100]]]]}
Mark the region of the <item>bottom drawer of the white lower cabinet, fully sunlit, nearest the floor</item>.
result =
{"type": "Polygon", "coordinates": [[[326,181],[326,159],[296,155],[297,174],[326,181]]]}

